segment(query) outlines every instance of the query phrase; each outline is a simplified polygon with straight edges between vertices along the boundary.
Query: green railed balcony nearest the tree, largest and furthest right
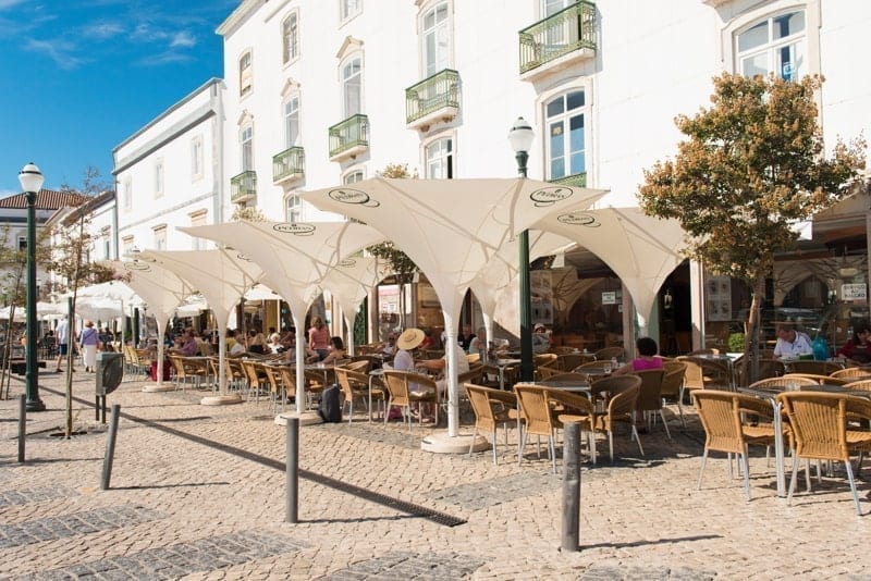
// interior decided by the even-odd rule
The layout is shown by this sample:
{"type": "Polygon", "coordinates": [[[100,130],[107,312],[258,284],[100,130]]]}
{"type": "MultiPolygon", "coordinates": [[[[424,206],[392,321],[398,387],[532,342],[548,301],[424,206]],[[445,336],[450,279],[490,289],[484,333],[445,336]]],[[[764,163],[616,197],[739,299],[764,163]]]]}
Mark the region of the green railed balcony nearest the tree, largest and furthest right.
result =
{"type": "Polygon", "coordinates": [[[520,74],[584,49],[596,52],[596,5],[581,0],[520,30],[520,74]]]}

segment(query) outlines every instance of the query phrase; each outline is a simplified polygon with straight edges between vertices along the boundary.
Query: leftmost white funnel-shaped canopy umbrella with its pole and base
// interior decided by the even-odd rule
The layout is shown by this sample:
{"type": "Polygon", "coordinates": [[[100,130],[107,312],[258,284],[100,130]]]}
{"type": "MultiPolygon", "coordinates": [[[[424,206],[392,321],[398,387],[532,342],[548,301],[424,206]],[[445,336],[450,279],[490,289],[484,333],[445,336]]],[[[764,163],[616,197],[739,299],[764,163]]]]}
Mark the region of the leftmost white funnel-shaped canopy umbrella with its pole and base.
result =
{"type": "Polygon", "coordinates": [[[187,281],[154,261],[136,258],[123,262],[108,261],[103,264],[111,267],[116,275],[124,277],[124,284],[136,292],[136,295],[145,301],[148,310],[155,317],[158,329],[157,385],[146,385],[143,391],[165,391],[167,388],[163,386],[163,333],[167,330],[170,314],[180,302],[194,293],[194,289],[187,281]]]}

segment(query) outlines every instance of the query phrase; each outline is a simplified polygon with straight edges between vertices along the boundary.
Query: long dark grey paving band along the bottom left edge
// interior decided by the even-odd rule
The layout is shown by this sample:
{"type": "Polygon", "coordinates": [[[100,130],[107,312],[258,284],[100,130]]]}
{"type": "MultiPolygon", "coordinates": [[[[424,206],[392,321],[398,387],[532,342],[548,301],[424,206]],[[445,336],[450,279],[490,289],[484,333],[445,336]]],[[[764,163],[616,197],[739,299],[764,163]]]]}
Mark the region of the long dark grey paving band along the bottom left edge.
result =
{"type": "Polygon", "coordinates": [[[179,579],[197,571],[299,551],[305,543],[259,531],[244,531],[54,569],[22,579],[179,579]]]}

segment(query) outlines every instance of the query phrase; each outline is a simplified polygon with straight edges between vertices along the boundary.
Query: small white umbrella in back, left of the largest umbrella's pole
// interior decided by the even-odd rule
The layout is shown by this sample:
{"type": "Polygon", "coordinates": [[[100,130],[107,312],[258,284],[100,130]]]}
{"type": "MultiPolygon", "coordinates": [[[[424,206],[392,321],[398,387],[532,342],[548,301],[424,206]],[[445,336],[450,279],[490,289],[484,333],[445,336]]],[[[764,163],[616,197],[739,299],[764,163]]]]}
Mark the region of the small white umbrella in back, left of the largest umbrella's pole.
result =
{"type": "Polygon", "coordinates": [[[321,287],[329,289],[342,306],[348,329],[348,350],[354,354],[354,321],[357,309],[369,292],[389,274],[384,261],[375,257],[355,256],[343,259],[323,277],[321,287]]]}

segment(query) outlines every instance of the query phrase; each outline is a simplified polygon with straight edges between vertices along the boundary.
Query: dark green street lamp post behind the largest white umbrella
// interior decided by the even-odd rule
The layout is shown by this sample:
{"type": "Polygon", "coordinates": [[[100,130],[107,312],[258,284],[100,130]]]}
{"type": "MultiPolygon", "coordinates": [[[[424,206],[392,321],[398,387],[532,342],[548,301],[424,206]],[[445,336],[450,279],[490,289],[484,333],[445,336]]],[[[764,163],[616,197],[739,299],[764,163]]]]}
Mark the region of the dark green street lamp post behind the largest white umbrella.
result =
{"type": "MultiPolygon", "coordinates": [[[[517,118],[508,132],[508,141],[517,160],[517,172],[526,178],[526,162],[536,134],[524,118],[517,118]]],[[[520,381],[532,381],[532,299],[529,288],[529,232],[517,237],[519,247],[518,281],[520,284],[520,381]]]]}

